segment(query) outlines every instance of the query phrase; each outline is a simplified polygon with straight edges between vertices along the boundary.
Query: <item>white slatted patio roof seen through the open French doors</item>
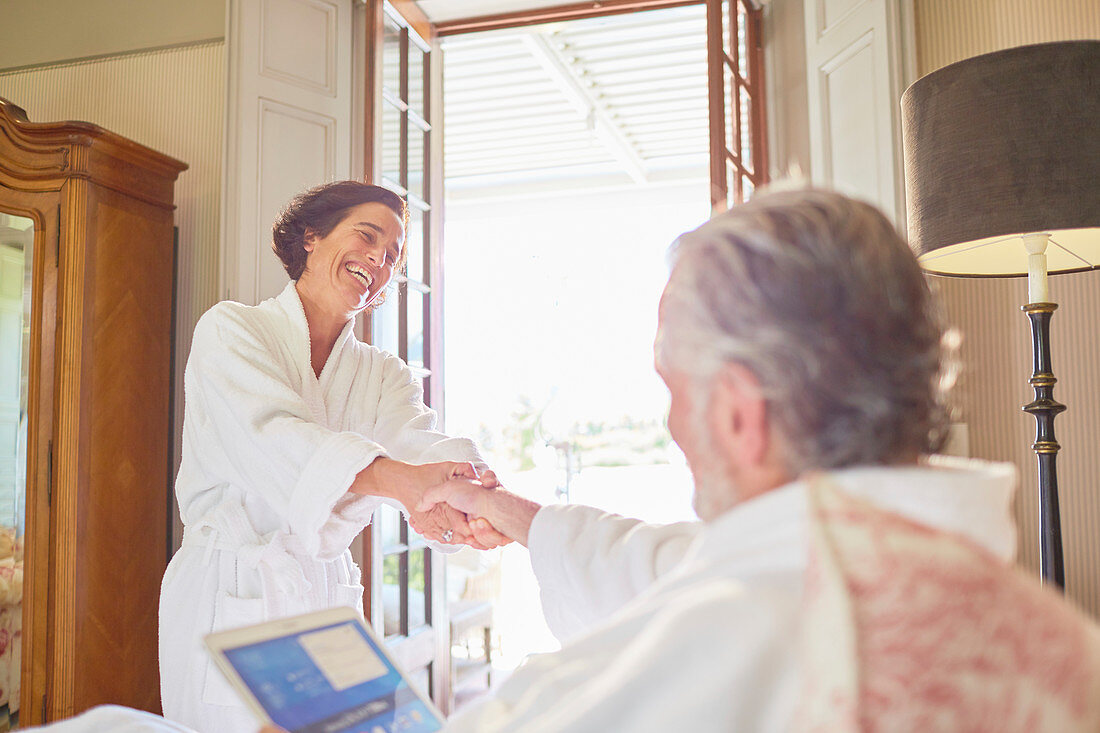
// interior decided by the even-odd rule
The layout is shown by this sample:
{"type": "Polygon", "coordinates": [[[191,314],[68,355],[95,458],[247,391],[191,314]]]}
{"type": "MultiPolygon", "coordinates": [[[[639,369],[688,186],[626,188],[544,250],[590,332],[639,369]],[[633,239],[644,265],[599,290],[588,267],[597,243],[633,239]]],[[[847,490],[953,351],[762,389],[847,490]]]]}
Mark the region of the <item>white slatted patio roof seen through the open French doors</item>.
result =
{"type": "Polygon", "coordinates": [[[449,196],[705,177],[705,8],[447,36],[443,118],[449,196]]]}

